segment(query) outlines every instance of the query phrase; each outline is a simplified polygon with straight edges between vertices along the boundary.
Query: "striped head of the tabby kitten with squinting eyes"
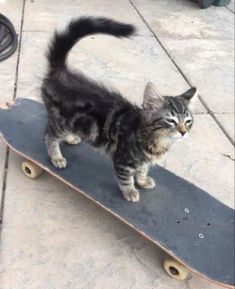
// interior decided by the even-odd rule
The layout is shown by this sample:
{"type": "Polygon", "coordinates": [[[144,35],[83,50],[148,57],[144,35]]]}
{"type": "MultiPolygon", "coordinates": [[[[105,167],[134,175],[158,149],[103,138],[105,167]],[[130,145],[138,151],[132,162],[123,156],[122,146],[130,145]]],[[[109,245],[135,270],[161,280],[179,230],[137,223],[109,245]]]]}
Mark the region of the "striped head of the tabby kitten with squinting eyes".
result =
{"type": "Polygon", "coordinates": [[[142,106],[150,130],[172,141],[185,138],[193,124],[189,106],[196,94],[196,88],[191,88],[175,97],[163,97],[153,83],[148,83],[142,106]]]}

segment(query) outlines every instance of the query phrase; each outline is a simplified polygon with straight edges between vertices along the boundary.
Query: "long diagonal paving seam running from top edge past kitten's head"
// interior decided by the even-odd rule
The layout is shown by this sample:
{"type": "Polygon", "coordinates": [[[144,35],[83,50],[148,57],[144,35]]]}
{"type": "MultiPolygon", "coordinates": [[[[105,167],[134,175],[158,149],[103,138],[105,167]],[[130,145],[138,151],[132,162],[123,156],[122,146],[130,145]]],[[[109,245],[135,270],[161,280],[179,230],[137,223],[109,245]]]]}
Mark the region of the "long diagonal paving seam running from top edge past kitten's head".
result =
{"type": "MultiPolygon", "coordinates": [[[[139,15],[139,17],[141,18],[141,20],[144,22],[144,24],[148,27],[148,29],[150,30],[150,32],[153,34],[154,38],[156,39],[156,41],[159,43],[159,45],[161,46],[161,48],[164,50],[164,52],[166,53],[166,55],[169,57],[169,59],[171,60],[171,62],[174,64],[174,66],[176,67],[176,69],[179,71],[179,73],[181,74],[181,76],[184,78],[184,80],[187,82],[187,84],[190,87],[193,87],[193,85],[190,83],[189,79],[187,78],[187,76],[183,73],[182,69],[179,67],[179,65],[176,63],[176,61],[174,60],[174,58],[171,56],[171,54],[167,51],[167,49],[165,48],[165,46],[162,44],[162,42],[160,41],[160,39],[157,37],[156,33],[153,31],[153,29],[151,28],[151,26],[148,24],[148,22],[145,20],[145,18],[142,16],[142,14],[140,13],[140,11],[138,10],[138,8],[134,5],[134,3],[132,2],[132,0],[129,0],[130,4],[132,5],[132,7],[135,9],[136,13],[139,15]]],[[[216,116],[214,115],[213,111],[209,108],[209,106],[205,103],[205,101],[203,100],[203,98],[198,95],[198,99],[200,100],[200,102],[202,103],[202,105],[204,106],[204,108],[207,110],[208,114],[210,114],[210,116],[214,119],[214,121],[216,122],[216,124],[219,126],[219,128],[222,130],[222,132],[224,133],[224,135],[227,137],[227,139],[230,141],[230,143],[234,146],[235,142],[232,139],[232,137],[228,134],[228,132],[226,131],[226,129],[224,128],[224,126],[220,123],[220,121],[216,118],[216,116]]]]}

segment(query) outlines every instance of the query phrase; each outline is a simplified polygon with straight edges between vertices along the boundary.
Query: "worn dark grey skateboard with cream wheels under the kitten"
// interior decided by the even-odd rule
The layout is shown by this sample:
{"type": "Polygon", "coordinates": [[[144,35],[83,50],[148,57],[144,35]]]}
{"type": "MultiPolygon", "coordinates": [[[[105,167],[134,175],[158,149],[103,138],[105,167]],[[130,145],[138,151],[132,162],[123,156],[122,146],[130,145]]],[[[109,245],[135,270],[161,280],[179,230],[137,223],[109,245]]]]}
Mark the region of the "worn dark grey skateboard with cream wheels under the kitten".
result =
{"type": "Polygon", "coordinates": [[[207,192],[157,166],[150,171],[157,186],[141,190],[138,203],[125,201],[115,179],[112,162],[85,143],[62,144],[68,164],[50,163],[43,135],[44,105],[19,99],[0,108],[3,141],[26,161],[22,170],[35,179],[46,171],[101,206],[168,256],[165,271],[184,280],[190,271],[234,288],[234,210],[207,192]]]}

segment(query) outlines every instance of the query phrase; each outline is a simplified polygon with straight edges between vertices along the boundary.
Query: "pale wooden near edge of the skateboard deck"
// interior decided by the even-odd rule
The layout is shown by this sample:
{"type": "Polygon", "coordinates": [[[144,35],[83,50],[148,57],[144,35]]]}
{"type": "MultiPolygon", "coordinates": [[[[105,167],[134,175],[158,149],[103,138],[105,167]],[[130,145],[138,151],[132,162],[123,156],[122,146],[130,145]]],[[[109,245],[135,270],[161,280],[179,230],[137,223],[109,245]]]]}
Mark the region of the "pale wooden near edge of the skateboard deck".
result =
{"type": "MultiPolygon", "coordinates": [[[[14,105],[15,102],[13,102],[11,105],[14,105]]],[[[10,106],[11,106],[10,105],[10,106]]],[[[0,105],[0,108],[1,105],[0,105]]],[[[9,109],[9,106],[8,108],[9,109]]],[[[166,254],[168,254],[170,257],[172,257],[173,259],[175,259],[176,261],[178,261],[180,264],[184,265],[186,268],[188,268],[190,270],[190,272],[195,273],[196,275],[202,277],[203,279],[206,279],[214,284],[220,285],[224,288],[229,288],[229,289],[235,289],[235,285],[229,285],[226,283],[221,283],[219,281],[216,281],[214,279],[211,279],[210,277],[207,277],[206,275],[203,275],[201,272],[198,272],[195,269],[192,269],[190,266],[188,266],[185,262],[183,262],[179,257],[177,257],[176,255],[174,255],[174,253],[172,251],[169,251],[167,248],[165,248],[160,242],[155,241],[154,239],[152,239],[150,236],[146,235],[143,231],[140,231],[139,229],[137,229],[136,227],[134,227],[131,223],[127,222],[125,219],[123,219],[122,217],[120,217],[118,214],[112,212],[110,209],[108,209],[107,207],[105,207],[104,205],[102,205],[100,202],[96,201],[94,198],[88,196],[85,192],[83,192],[82,190],[74,187],[72,184],[70,184],[69,182],[65,181],[62,177],[58,176],[57,174],[55,174],[54,172],[52,172],[50,169],[48,169],[47,167],[43,166],[42,164],[40,164],[39,162],[37,162],[36,160],[30,158],[29,156],[23,154],[22,152],[18,151],[17,149],[15,149],[13,146],[11,146],[5,139],[4,135],[0,132],[0,137],[2,138],[2,140],[4,141],[4,143],[12,150],[14,151],[16,154],[18,154],[19,156],[25,158],[28,161],[31,161],[32,163],[36,164],[37,166],[39,166],[42,170],[46,171],[47,173],[49,173],[51,176],[55,177],[56,179],[60,180],[62,183],[68,185],[68,187],[72,188],[73,190],[75,190],[76,192],[79,192],[81,195],[83,195],[85,198],[91,200],[94,204],[96,204],[97,206],[103,208],[106,212],[110,213],[112,216],[116,217],[119,221],[123,222],[124,224],[126,224],[127,226],[129,226],[130,228],[132,228],[135,232],[137,232],[138,234],[140,234],[142,237],[144,237],[145,239],[147,239],[148,241],[150,241],[151,243],[153,243],[154,245],[158,246],[161,250],[163,250],[166,254]]],[[[131,204],[130,204],[131,205],[131,204]]]]}

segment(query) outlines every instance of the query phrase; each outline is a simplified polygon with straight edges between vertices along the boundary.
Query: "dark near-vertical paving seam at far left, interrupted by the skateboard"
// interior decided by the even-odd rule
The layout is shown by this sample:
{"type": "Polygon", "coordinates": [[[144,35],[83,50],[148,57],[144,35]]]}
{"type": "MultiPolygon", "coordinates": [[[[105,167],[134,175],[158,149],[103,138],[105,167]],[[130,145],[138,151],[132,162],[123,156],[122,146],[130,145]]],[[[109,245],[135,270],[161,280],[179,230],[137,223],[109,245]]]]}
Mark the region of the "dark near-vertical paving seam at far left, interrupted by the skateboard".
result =
{"type": "MultiPolygon", "coordinates": [[[[20,31],[19,31],[19,36],[18,36],[19,37],[19,42],[18,42],[19,44],[18,44],[18,51],[17,51],[13,100],[16,99],[16,93],[17,93],[18,72],[19,72],[21,41],[22,41],[23,24],[24,24],[25,3],[26,3],[26,0],[23,0],[22,10],[21,10],[21,24],[20,24],[20,31]]],[[[7,174],[8,174],[8,167],[9,167],[9,155],[10,155],[10,150],[7,147],[6,148],[6,157],[5,157],[4,169],[3,169],[4,173],[3,173],[2,196],[1,196],[1,207],[0,207],[0,233],[1,233],[1,229],[2,229],[2,222],[3,222],[3,215],[4,215],[4,205],[5,205],[5,196],[6,196],[6,186],[7,186],[7,174]]]]}

